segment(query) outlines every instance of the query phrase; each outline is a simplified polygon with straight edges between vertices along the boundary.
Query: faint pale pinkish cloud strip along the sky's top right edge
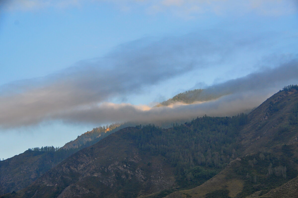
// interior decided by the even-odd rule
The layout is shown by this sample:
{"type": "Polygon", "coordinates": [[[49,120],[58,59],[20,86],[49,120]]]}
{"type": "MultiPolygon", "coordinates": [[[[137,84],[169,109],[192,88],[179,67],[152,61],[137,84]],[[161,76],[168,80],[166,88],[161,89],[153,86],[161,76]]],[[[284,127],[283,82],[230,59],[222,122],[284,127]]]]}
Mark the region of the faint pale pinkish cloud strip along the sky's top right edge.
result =
{"type": "Polygon", "coordinates": [[[259,15],[277,16],[297,12],[297,4],[294,0],[162,0],[153,2],[150,6],[159,7],[160,11],[169,10],[184,16],[202,13],[243,15],[251,12],[259,15]]]}

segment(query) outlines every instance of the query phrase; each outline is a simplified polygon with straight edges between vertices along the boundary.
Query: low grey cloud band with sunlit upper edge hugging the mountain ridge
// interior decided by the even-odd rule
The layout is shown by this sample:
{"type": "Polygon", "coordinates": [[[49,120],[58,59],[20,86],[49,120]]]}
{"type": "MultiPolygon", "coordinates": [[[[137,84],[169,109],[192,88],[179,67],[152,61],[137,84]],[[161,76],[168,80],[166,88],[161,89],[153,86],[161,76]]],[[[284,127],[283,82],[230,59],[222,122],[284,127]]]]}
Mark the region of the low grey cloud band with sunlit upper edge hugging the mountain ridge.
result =
{"type": "Polygon", "coordinates": [[[170,106],[148,107],[131,104],[102,103],[86,109],[63,112],[53,119],[70,123],[124,122],[160,123],[161,121],[190,120],[205,114],[232,116],[250,110],[290,82],[298,83],[298,59],[276,68],[266,69],[245,77],[206,88],[205,94],[224,96],[193,104],[175,103],[170,106]]]}

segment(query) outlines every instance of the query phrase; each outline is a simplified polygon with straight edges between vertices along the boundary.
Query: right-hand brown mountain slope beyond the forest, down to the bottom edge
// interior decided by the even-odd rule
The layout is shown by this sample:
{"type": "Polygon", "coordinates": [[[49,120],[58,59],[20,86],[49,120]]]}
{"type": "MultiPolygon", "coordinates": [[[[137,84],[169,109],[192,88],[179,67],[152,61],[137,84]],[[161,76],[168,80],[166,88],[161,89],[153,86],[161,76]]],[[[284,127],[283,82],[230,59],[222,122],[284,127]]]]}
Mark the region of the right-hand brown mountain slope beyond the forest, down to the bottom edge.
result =
{"type": "Polygon", "coordinates": [[[206,183],[167,197],[298,197],[297,90],[290,86],[249,113],[238,136],[242,157],[206,183]]]}

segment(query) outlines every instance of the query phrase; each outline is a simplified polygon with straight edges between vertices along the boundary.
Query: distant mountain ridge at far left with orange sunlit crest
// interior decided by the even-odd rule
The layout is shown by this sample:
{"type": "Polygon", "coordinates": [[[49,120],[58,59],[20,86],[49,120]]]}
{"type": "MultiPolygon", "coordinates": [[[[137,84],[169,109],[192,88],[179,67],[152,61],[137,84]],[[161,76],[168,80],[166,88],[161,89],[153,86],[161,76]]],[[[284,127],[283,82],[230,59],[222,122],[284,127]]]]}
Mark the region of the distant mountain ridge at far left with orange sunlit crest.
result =
{"type": "Polygon", "coordinates": [[[106,127],[94,128],[66,143],[61,148],[51,146],[32,148],[12,158],[0,161],[0,194],[25,188],[70,155],[121,129],[122,125],[125,127],[129,124],[116,123],[106,127]]]}

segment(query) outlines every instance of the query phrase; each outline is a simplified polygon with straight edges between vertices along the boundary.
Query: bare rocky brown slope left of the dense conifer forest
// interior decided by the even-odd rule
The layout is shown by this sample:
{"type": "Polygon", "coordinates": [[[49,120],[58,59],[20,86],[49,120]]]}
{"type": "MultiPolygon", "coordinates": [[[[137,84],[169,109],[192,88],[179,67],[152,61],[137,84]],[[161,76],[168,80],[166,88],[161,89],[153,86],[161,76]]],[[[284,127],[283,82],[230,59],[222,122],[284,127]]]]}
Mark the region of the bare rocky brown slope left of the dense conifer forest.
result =
{"type": "MultiPolygon", "coordinates": [[[[126,128],[121,130],[121,134],[125,136],[128,130],[133,132],[137,129],[126,128]]],[[[107,197],[108,194],[119,193],[129,197],[134,194],[133,188],[146,188],[144,191],[151,193],[172,185],[173,175],[167,165],[156,157],[140,154],[131,141],[112,134],[100,142],[82,149],[44,174],[30,185],[29,190],[25,190],[24,196],[72,197],[78,194],[93,197],[97,194],[107,197]],[[150,163],[154,165],[150,166],[150,163]],[[164,176],[161,177],[161,174],[164,176]],[[116,185],[120,179],[123,182],[116,185]],[[144,180],[147,185],[140,186],[144,180]]]]}

